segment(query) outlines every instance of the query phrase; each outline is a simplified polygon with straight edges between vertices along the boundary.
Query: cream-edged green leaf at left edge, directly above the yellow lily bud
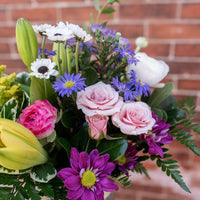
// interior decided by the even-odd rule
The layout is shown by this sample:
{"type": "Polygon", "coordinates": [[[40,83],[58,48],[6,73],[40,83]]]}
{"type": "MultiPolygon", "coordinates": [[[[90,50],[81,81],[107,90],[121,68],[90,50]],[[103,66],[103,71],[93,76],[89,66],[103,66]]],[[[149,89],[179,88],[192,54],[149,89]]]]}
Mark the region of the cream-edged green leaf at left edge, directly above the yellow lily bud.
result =
{"type": "Polygon", "coordinates": [[[14,97],[12,97],[3,105],[1,109],[1,117],[15,121],[17,116],[17,109],[17,100],[14,97]]]}

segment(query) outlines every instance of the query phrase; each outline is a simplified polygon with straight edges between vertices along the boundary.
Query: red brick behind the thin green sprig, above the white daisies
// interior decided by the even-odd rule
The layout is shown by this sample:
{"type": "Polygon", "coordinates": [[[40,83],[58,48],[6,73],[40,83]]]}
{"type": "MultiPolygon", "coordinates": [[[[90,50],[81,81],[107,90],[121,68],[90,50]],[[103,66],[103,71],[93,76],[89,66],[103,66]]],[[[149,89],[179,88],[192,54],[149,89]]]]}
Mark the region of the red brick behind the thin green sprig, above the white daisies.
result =
{"type": "MultiPolygon", "coordinates": [[[[90,20],[90,13],[94,14],[94,19],[96,19],[97,11],[94,7],[71,7],[61,9],[61,19],[63,21],[78,21],[80,23],[90,20]]],[[[108,15],[101,15],[100,20],[110,20],[108,15]]]]}

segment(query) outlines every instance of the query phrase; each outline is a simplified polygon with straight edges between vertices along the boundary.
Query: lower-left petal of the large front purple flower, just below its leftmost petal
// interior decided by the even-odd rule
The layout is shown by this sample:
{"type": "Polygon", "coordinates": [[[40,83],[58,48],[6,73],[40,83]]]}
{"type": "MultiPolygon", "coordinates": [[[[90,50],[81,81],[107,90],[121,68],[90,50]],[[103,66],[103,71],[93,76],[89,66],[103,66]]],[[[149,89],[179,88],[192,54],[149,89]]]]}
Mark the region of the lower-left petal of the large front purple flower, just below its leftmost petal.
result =
{"type": "Polygon", "coordinates": [[[79,176],[70,176],[65,179],[65,187],[69,190],[78,190],[81,187],[81,179],[79,176]]]}

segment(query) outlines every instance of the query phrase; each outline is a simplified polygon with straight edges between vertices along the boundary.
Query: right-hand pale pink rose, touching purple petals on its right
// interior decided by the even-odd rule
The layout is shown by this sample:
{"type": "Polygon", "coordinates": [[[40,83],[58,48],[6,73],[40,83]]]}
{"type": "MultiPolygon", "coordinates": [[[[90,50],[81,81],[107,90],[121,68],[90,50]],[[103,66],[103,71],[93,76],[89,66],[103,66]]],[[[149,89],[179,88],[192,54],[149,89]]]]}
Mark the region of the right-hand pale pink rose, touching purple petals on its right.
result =
{"type": "Polygon", "coordinates": [[[120,112],[112,116],[112,122],[127,135],[148,133],[155,119],[152,117],[150,107],[143,102],[124,103],[120,112]]]}

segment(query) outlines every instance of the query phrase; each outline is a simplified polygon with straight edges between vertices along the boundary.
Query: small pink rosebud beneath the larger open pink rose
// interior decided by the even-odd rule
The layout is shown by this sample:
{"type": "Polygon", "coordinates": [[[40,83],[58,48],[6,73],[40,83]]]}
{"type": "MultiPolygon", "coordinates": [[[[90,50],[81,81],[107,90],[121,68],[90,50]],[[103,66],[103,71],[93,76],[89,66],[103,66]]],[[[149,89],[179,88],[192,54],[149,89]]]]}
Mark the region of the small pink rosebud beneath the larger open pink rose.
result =
{"type": "Polygon", "coordinates": [[[103,131],[104,136],[107,133],[107,122],[109,117],[102,115],[86,116],[90,128],[90,135],[95,140],[100,140],[103,138],[101,132],[103,131]]]}

